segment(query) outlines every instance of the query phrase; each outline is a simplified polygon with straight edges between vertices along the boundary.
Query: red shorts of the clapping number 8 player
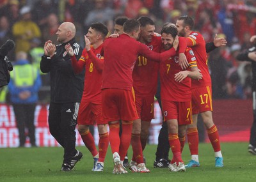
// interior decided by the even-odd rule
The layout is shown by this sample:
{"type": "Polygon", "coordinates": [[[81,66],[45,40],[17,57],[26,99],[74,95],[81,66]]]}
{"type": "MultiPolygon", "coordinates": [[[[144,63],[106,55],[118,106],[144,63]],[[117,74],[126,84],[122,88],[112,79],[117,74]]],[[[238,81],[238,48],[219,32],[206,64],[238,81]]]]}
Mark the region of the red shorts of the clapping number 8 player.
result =
{"type": "Polygon", "coordinates": [[[104,122],[101,114],[101,104],[92,102],[81,102],[78,111],[78,125],[108,124],[104,122]]]}

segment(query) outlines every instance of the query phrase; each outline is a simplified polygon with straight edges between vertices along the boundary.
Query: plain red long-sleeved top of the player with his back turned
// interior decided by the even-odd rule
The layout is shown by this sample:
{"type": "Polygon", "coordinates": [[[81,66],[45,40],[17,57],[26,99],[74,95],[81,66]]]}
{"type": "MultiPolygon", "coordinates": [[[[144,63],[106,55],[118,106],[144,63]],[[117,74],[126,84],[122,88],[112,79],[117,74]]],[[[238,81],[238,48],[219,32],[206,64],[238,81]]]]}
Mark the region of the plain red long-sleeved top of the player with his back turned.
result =
{"type": "Polygon", "coordinates": [[[161,54],[151,51],[146,45],[121,34],[118,38],[108,38],[104,42],[104,72],[102,89],[132,89],[132,70],[139,54],[155,61],[165,60],[175,54],[175,49],[161,54]]]}

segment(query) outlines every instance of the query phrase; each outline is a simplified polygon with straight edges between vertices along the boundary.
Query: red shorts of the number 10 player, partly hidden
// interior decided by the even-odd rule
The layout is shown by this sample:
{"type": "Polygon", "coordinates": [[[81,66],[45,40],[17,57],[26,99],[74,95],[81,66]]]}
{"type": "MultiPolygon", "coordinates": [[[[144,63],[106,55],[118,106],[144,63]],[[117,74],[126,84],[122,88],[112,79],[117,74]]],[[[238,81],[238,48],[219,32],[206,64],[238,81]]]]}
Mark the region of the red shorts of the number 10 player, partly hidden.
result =
{"type": "Polygon", "coordinates": [[[154,118],[154,96],[136,96],[135,104],[141,121],[151,121],[154,118]]]}

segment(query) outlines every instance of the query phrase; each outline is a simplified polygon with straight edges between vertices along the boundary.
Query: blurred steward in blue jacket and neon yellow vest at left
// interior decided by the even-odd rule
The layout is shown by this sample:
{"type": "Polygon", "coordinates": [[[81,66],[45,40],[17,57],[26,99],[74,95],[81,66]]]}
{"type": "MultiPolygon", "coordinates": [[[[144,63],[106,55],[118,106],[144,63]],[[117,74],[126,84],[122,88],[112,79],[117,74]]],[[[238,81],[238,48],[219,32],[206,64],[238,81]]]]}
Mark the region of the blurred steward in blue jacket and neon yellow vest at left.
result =
{"type": "Polygon", "coordinates": [[[25,128],[28,128],[31,146],[36,146],[34,114],[41,79],[38,70],[29,64],[26,52],[17,52],[16,60],[13,71],[10,72],[8,89],[19,130],[19,146],[25,146],[27,135],[25,128]]]}

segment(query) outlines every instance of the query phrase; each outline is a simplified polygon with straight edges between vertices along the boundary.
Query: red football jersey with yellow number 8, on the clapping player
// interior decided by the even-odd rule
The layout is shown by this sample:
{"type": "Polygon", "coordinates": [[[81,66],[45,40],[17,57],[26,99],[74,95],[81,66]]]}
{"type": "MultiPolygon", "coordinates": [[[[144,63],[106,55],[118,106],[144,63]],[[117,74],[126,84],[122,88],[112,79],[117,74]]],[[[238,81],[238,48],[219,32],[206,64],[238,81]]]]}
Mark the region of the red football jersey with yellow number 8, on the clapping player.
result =
{"type": "MultiPolygon", "coordinates": [[[[97,47],[97,49],[93,49],[91,46],[91,50],[93,54],[103,62],[104,57],[100,55],[102,47],[103,43],[97,47]]],[[[101,104],[102,70],[95,66],[92,59],[93,58],[88,56],[86,49],[84,49],[82,56],[79,59],[79,61],[85,61],[84,91],[82,100],[88,100],[96,104],[101,104]]]]}

